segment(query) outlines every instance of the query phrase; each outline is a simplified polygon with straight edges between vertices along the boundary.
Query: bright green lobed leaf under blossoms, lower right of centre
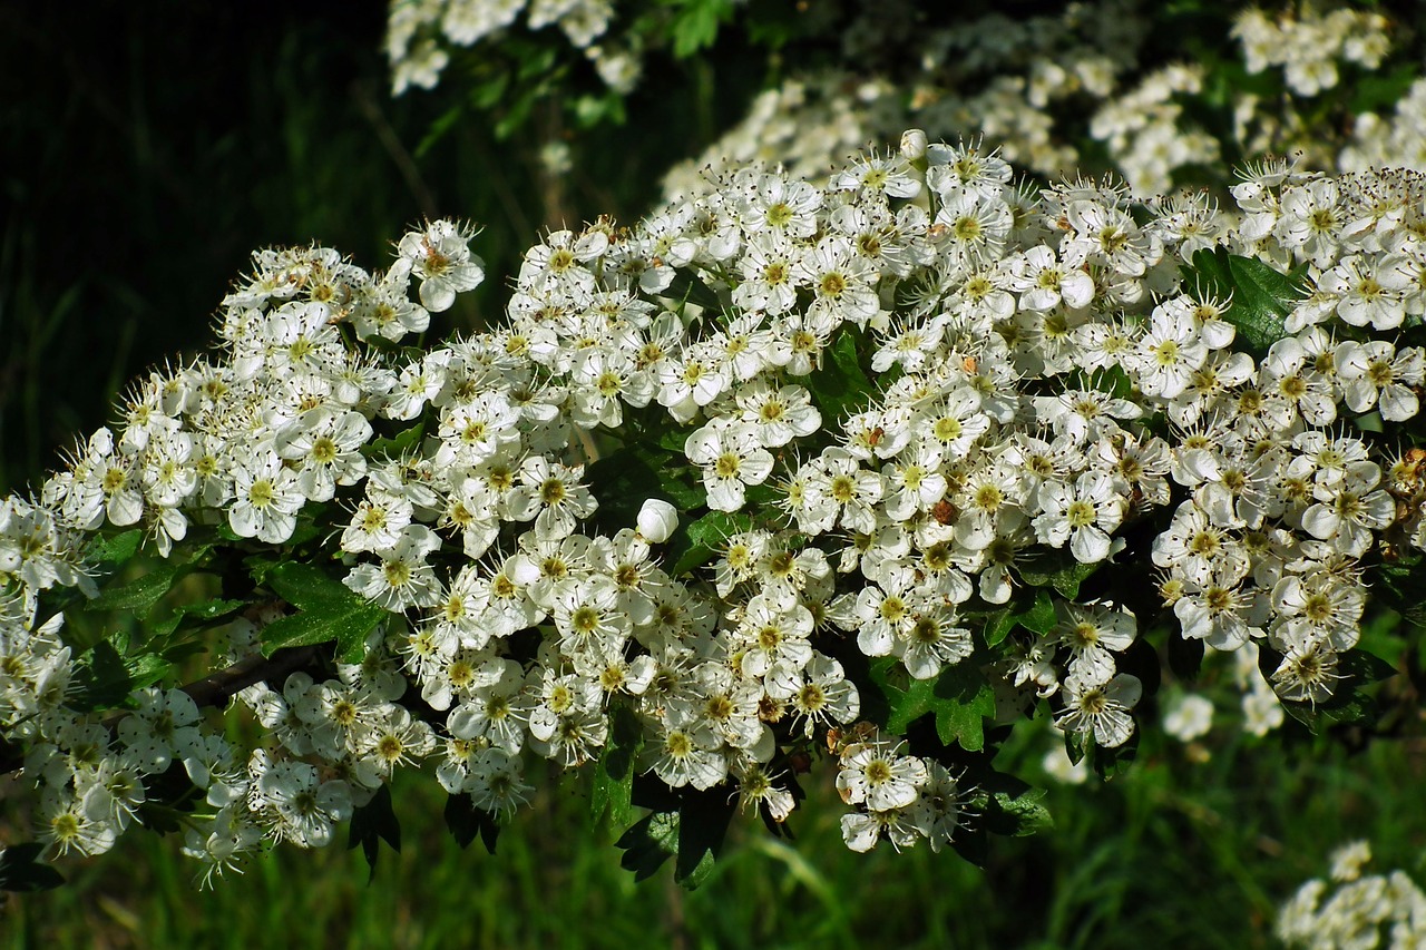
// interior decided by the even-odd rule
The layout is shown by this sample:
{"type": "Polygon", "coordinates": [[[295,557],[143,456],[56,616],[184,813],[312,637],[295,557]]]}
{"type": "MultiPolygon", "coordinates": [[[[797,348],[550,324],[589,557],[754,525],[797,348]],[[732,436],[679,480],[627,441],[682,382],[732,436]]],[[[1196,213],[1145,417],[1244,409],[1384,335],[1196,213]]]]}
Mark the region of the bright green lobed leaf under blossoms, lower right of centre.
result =
{"type": "Polygon", "coordinates": [[[985,747],[985,719],[995,716],[995,690],[971,660],[947,666],[935,679],[911,679],[896,658],[871,663],[871,680],[887,698],[887,732],[906,735],[925,715],[935,716],[935,735],[967,752],[985,747]]]}

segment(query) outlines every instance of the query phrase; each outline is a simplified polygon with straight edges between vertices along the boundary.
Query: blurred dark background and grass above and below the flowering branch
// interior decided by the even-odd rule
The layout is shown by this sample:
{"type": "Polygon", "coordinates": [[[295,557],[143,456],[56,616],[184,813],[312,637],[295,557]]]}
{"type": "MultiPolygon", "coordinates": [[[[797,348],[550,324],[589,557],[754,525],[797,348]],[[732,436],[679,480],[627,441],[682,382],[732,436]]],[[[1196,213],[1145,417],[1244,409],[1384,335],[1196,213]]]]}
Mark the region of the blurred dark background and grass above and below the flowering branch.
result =
{"type": "MultiPolygon", "coordinates": [[[[539,228],[635,220],[662,170],[713,141],[779,68],[727,44],[659,61],[626,123],[600,127],[550,174],[542,144],[576,134],[558,101],[498,138],[449,97],[392,100],[384,27],[379,3],[0,9],[0,494],[37,485],[76,434],[108,419],[128,379],[198,352],[254,248],[318,241],[375,268],[409,223],[473,220],[491,280],[449,320],[479,325],[539,228]]],[[[997,846],[984,870],[886,844],[853,854],[834,797],[813,789],[796,842],[736,822],[727,860],[693,893],[667,869],[636,886],[619,852],[583,832],[578,783],[536,780],[535,813],[492,856],[461,852],[435,783],[406,776],[402,852],[369,882],[356,852],[284,849],[198,892],[177,840],[135,832],[101,859],[61,862],[70,887],[0,909],[0,941],[1272,946],[1276,904],[1343,840],[1370,837],[1382,866],[1426,870],[1426,749],[1295,729],[1258,742],[1221,723],[1211,747],[1155,730],[1161,745],[1145,736],[1139,767],[1057,787],[1057,830],[997,846]]],[[[1008,747],[997,769],[1035,777],[1048,729],[1042,739],[1008,747]]]]}

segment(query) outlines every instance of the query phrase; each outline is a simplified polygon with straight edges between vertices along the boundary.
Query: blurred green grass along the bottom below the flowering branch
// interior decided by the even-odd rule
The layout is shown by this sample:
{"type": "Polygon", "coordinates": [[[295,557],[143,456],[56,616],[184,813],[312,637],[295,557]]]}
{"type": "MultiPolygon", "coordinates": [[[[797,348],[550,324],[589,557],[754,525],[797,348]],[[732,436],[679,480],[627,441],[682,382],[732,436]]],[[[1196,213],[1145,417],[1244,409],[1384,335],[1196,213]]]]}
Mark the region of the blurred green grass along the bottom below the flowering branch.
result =
{"type": "MultiPolygon", "coordinates": [[[[1037,750],[1005,753],[1022,773],[1037,750]]],[[[1338,844],[1368,837],[1380,867],[1420,873],[1426,814],[1413,789],[1426,746],[1350,756],[1310,740],[1232,740],[1206,762],[1145,753],[1109,783],[1054,787],[1054,832],[997,840],[987,867],[953,852],[847,852],[840,803],[809,782],[797,839],[734,820],[724,859],[694,892],[670,869],[636,883],[588,832],[578,782],[539,782],[496,853],[443,832],[434,782],[395,789],[399,854],[368,883],[359,852],[279,849],[198,890],[177,842],[131,833],[116,852],[61,862],[71,886],[13,899],[11,947],[1268,947],[1276,906],[1320,876],[1338,844]]]]}

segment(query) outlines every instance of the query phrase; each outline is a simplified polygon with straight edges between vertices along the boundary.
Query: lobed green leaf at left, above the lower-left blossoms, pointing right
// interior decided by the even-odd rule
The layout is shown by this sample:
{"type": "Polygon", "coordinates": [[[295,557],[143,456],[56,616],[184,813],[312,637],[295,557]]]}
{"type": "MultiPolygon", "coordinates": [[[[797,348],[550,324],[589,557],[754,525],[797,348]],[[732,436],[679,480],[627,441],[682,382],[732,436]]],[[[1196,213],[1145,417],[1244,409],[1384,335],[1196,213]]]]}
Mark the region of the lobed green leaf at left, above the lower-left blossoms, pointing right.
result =
{"type": "Polygon", "coordinates": [[[285,646],[335,642],[338,655],[355,662],[366,635],[388,616],[384,608],[312,565],[279,563],[267,572],[267,585],[298,613],[262,628],[264,656],[285,646]]]}

